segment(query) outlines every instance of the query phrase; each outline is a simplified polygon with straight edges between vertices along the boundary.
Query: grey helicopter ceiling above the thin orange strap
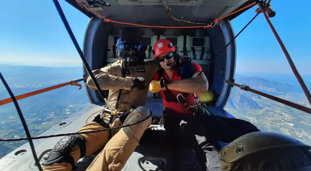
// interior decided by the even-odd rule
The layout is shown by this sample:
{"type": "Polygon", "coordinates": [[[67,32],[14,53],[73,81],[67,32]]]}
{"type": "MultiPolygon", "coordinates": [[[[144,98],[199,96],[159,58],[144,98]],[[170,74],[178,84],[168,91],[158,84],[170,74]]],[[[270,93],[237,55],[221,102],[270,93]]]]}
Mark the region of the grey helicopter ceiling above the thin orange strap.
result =
{"type": "MultiPolygon", "coordinates": [[[[66,0],[88,16],[94,16],[76,0],[66,0]]],[[[248,5],[253,0],[79,0],[92,11],[111,20],[143,25],[189,26],[187,20],[210,23],[248,5]]],[[[197,24],[196,24],[197,25],[197,24]]]]}

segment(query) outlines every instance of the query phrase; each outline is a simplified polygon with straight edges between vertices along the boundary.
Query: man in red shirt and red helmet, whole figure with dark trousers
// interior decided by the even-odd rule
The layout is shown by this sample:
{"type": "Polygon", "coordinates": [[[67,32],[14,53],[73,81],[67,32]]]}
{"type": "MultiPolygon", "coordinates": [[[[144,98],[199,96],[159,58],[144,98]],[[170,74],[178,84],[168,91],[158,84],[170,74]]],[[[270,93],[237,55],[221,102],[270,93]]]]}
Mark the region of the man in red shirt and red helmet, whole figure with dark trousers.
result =
{"type": "Polygon", "coordinates": [[[156,63],[162,69],[153,77],[149,90],[152,93],[160,91],[163,98],[165,130],[177,143],[193,149],[203,170],[219,171],[220,146],[217,141],[231,142],[260,130],[241,119],[200,112],[197,107],[202,105],[198,93],[208,90],[201,66],[191,62],[189,57],[179,56],[167,39],[158,40],[153,49],[156,63]]]}

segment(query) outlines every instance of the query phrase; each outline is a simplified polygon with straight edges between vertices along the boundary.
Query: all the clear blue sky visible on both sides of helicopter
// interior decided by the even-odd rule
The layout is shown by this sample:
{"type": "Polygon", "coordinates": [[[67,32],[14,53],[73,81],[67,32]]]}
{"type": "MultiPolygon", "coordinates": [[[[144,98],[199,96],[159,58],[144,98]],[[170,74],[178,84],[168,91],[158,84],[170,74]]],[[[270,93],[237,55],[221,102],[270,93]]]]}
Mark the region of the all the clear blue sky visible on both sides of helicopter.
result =
{"type": "MultiPolygon", "coordinates": [[[[271,19],[301,74],[311,73],[311,1],[272,1],[271,19]]],[[[89,18],[60,0],[82,46],[89,18]]],[[[34,66],[81,66],[81,59],[51,0],[4,1],[0,7],[0,63],[34,66]],[[31,2],[31,3],[30,3],[31,2]],[[12,8],[14,7],[14,8],[12,8]],[[14,10],[12,10],[14,9],[14,10]]],[[[235,33],[255,15],[256,7],[232,21],[235,33]]],[[[262,14],[239,35],[236,72],[291,73],[262,14]]]]}

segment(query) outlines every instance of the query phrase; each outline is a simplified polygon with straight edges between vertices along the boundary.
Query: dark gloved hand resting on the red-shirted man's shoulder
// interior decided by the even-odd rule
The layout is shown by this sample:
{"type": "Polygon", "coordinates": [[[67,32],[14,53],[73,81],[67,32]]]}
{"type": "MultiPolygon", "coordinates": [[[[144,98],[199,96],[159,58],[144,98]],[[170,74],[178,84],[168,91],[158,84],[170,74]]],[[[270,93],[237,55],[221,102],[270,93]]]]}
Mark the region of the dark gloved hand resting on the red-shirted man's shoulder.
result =
{"type": "Polygon", "coordinates": [[[182,56],[179,60],[179,67],[177,76],[181,79],[191,78],[194,75],[194,67],[191,62],[191,58],[188,56],[182,56]]]}

